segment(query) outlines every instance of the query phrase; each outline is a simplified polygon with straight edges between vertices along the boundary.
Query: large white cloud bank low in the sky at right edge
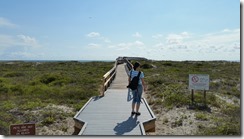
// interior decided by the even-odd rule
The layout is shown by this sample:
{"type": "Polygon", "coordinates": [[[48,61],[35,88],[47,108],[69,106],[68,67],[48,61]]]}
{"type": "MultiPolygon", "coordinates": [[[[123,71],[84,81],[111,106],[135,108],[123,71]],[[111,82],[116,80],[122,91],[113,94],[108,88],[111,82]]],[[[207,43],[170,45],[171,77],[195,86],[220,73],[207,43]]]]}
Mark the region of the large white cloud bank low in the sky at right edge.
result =
{"type": "MultiPolygon", "coordinates": [[[[163,35],[154,35],[158,39],[163,35]]],[[[240,30],[224,29],[219,32],[209,34],[191,35],[188,32],[171,33],[165,38],[161,37],[160,42],[152,45],[153,49],[165,51],[167,53],[208,53],[219,55],[220,53],[238,53],[240,51],[240,30]]]]}

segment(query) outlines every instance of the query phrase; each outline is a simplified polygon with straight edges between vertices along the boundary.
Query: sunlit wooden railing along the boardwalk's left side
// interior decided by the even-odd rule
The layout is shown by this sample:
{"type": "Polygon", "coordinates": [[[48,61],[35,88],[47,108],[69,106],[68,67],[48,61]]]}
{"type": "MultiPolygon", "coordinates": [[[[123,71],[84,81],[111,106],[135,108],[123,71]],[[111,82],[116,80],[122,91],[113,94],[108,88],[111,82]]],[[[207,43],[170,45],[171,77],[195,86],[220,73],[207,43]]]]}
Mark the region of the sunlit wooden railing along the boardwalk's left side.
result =
{"type": "Polygon", "coordinates": [[[117,69],[117,60],[114,63],[114,67],[110,69],[106,74],[103,75],[103,89],[101,96],[104,96],[104,92],[108,89],[112,81],[115,79],[117,69]]]}

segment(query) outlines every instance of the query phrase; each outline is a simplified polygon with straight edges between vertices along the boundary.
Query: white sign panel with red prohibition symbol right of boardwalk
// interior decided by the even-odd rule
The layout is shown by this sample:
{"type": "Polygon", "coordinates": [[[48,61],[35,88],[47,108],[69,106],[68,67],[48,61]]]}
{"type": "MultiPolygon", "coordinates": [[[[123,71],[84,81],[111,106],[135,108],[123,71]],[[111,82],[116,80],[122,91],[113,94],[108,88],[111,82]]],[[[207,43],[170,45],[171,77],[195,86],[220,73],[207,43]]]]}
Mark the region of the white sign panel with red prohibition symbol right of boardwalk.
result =
{"type": "Polygon", "coordinates": [[[209,75],[207,74],[189,74],[190,90],[209,90],[209,75]]]}

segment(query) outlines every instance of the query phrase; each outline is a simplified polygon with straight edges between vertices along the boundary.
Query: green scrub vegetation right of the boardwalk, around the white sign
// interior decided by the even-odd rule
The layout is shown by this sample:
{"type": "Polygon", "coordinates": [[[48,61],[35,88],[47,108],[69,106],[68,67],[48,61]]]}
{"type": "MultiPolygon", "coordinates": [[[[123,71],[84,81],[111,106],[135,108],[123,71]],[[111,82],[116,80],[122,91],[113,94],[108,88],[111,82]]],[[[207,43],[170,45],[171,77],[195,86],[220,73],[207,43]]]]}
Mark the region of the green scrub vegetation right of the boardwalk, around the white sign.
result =
{"type": "MultiPolygon", "coordinates": [[[[135,61],[132,61],[134,63],[135,61]]],[[[240,112],[240,63],[227,61],[140,61],[148,84],[148,103],[158,114],[158,108],[191,106],[191,92],[188,89],[189,74],[208,74],[210,90],[203,106],[203,91],[195,91],[195,118],[211,122],[211,126],[200,124],[197,135],[241,135],[240,112]],[[232,103],[233,102],[233,103],[232,103]],[[216,109],[213,112],[212,109],[216,109]]],[[[183,119],[177,119],[172,126],[181,126],[183,119]]],[[[167,120],[164,121],[166,123],[167,120]]],[[[191,122],[192,124],[192,122],[191,122]]]]}

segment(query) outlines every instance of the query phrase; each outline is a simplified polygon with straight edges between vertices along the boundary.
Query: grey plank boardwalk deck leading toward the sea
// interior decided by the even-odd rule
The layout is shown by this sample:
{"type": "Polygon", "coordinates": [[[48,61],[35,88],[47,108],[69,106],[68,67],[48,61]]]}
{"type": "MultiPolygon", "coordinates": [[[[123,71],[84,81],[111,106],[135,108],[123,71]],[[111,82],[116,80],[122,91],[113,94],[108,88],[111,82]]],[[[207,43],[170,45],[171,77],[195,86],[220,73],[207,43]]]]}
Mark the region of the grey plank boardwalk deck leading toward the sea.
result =
{"type": "Polygon", "coordinates": [[[127,84],[125,65],[118,65],[116,78],[105,96],[91,98],[75,115],[75,121],[82,126],[79,135],[145,135],[145,129],[155,128],[156,118],[145,99],[141,115],[131,116],[132,94],[127,84]]]}

